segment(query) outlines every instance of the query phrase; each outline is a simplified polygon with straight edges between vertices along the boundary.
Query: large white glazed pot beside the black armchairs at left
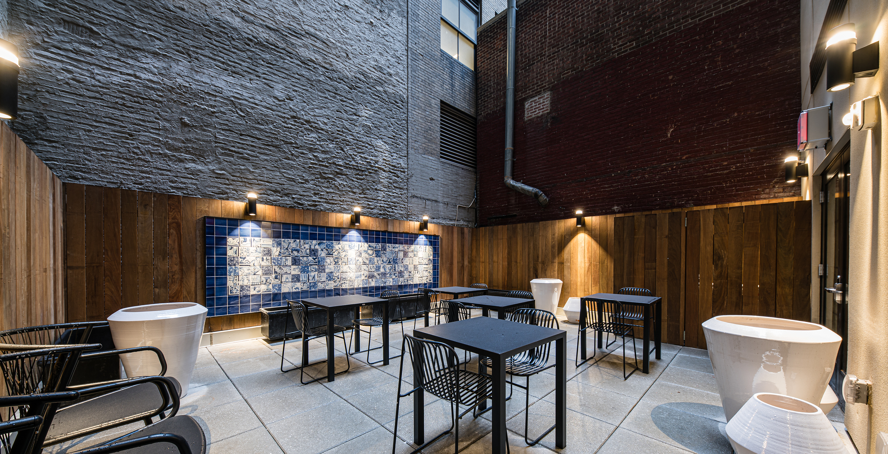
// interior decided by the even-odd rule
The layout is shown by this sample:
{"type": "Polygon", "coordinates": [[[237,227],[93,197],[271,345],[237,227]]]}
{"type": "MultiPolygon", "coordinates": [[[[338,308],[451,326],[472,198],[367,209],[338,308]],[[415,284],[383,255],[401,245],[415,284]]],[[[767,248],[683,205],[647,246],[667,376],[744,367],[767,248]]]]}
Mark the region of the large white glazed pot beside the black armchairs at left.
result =
{"type": "MultiPolygon", "coordinates": [[[[156,346],[167,362],[167,377],[176,378],[188,392],[197,349],[201,344],[207,308],[197,303],[161,303],[125,307],[110,317],[111,336],[117,348],[156,346]]],[[[161,364],[153,352],[122,354],[127,377],[157,375],[161,364]]]]}

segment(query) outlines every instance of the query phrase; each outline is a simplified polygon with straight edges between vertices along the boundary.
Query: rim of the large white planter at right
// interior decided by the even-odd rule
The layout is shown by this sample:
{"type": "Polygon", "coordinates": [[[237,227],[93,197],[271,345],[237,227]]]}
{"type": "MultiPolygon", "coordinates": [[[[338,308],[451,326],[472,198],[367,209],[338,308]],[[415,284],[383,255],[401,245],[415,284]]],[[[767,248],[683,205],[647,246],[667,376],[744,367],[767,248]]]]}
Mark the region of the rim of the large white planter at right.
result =
{"type": "Polygon", "coordinates": [[[842,338],[829,328],[809,322],[759,315],[718,315],[702,323],[705,330],[733,336],[793,342],[830,344],[842,338]]]}

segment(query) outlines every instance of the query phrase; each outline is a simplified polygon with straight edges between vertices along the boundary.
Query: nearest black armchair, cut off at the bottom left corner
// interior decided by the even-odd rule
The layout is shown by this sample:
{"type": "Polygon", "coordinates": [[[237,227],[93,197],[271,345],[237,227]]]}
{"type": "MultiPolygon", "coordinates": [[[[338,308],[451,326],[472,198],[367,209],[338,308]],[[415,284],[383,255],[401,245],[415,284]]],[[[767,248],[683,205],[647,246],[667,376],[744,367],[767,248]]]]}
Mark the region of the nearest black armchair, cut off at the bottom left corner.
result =
{"type": "MultiPolygon", "coordinates": [[[[169,378],[165,378],[169,380],[169,378]]],[[[171,383],[169,384],[171,386],[171,383]]],[[[43,447],[26,446],[26,443],[8,444],[8,441],[33,440],[34,434],[46,426],[47,421],[39,410],[47,405],[62,402],[75,402],[80,398],[80,393],[75,391],[62,393],[28,394],[0,397],[0,407],[16,409],[28,408],[23,413],[14,414],[15,418],[0,422],[0,443],[4,452],[9,454],[39,454],[43,447]],[[14,437],[12,434],[16,434],[14,437]]],[[[122,402],[125,405],[125,402],[122,402]]],[[[177,402],[178,410],[178,402],[177,402]]],[[[52,414],[49,415],[52,418],[52,414]]],[[[142,427],[130,434],[117,437],[114,440],[101,442],[86,450],[71,452],[70,454],[104,454],[107,452],[126,452],[129,454],[144,454],[146,450],[139,447],[149,444],[166,442],[174,445],[179,454],[202,454],[206,452],[206,437],[203,429],[194,418],[190,416],[173,416],[165,418],[151,426],[142,427]]],[[[163,448],[158,449],[163,450],[163,448]]]]}

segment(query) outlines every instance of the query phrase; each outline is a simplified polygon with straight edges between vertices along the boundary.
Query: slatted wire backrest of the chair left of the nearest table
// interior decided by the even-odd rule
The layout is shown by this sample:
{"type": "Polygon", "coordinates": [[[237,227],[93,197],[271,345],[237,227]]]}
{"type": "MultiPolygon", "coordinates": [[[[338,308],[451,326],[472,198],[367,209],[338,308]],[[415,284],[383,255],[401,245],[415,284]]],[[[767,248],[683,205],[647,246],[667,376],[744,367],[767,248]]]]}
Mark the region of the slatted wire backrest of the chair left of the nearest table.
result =
{"type": "Polygon", "coordinates": [[[459,357],[452,346],[405,334],[402,348],[410,354],[413,376],[425,392],[446,401],[458,401],[459,357]]]}

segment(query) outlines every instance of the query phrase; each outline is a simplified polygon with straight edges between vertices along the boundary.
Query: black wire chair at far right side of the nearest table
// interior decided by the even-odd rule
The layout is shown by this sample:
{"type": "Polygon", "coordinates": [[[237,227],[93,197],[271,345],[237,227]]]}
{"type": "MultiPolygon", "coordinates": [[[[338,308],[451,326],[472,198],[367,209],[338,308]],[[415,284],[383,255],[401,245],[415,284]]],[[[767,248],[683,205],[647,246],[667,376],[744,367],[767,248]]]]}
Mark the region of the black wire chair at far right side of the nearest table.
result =
{"type": "MultiPolygon", "coordinates": [[[[511,320],[512,322],[527,323],[560,330],[558,319],[555,318],[555,315],[549,311],[544,311],[543,309],[518,309],[509,315],[509,320],[511,320]]],[[[545,432],[543,432],[542,435],[540,435],[533,441],[527,438],[527,413],[528,409],[530,408],[530,376],[538,374],[543,370],[555,367],[554,362],[551,364],[549,363],[550,352],[551,343],[544,344],[542,346],[535,346],[534,348],[531,348],[526,352],[511,356],[505,361],[505,373],[511,375],[512,377],[527,378],[527,382],[525,383],[525,385],[519,385],[513,380],[509,380],[509,398],[511,398],[511,386],[518,386],[525,391],[524,442],[527,443],[527,446],[533,446],[536,443],[540,442],[541,440],[543,440],[543,437],[548,435],[555,428],[554,425],[549,427],[545,432]]],[[[493,362],[490,360],[490,358],[484,358],[483,360],[481,360],[481,364],[484,364],[485,366],[490,368],[493,367],[493,362]]]]}

